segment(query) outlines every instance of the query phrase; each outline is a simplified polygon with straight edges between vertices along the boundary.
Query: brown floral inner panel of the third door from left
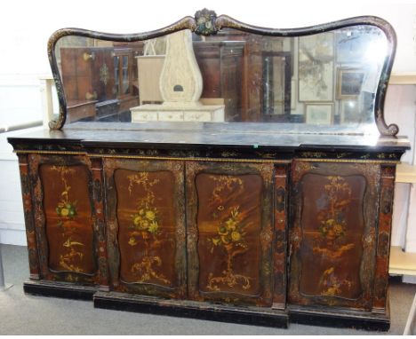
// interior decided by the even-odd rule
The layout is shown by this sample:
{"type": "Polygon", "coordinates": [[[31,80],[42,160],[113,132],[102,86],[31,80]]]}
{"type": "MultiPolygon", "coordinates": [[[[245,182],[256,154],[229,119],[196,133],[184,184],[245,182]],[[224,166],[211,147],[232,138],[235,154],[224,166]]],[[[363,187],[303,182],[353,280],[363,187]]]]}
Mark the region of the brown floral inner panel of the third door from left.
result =
{"type": "Polygon", "coordinates": [[[261,189],[258,175],[196,176],[201,291],[259,294],[261,189]]]}

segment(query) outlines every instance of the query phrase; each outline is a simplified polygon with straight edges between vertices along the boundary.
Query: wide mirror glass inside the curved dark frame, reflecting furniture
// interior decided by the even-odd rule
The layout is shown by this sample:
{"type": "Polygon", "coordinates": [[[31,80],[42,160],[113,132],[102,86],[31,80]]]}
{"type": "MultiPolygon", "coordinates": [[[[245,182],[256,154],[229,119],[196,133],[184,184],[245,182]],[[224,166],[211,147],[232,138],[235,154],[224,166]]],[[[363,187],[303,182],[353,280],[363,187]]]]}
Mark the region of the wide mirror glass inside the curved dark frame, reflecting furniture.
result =
{"type": "MultiPolygon", "coordinates": [[[[369,25],[299,37],[185,29],[140,42],[67,35],[55,48],[67,122],[374,125],[388,41],[369,25]]],[[[286,126],[286,125],[284,125],[286,126]]]]}

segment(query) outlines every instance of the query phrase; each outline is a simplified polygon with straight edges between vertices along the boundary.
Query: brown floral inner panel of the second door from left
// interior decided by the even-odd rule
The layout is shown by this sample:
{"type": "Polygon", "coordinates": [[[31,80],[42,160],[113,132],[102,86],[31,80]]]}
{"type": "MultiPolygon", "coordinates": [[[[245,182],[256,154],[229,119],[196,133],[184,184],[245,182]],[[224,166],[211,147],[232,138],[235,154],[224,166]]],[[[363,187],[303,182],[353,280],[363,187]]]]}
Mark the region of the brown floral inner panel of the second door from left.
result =
{"type": "Polygon", "coordinates": [[[172,172],[116,169],[115,183],[121,280],[171,287],[176,247],[172,172]]]}

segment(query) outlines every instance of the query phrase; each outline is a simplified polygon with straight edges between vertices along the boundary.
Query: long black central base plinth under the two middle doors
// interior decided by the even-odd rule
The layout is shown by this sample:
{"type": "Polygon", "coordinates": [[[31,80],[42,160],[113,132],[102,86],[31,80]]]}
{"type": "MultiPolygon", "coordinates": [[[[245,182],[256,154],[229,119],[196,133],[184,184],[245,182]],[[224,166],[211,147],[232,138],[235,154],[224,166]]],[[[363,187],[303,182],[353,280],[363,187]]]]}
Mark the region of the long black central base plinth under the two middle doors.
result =
{"type": "Polygon", "coordinates": [[[233,322],[265,327],[287,328],[285,311],[260,307],[238,307],[207,304],[185,300],[157,299],[150,296],[134,296],[116,292],[97,292],[93,296],[94,307],[169,315],[174,317],[233,322]]]}

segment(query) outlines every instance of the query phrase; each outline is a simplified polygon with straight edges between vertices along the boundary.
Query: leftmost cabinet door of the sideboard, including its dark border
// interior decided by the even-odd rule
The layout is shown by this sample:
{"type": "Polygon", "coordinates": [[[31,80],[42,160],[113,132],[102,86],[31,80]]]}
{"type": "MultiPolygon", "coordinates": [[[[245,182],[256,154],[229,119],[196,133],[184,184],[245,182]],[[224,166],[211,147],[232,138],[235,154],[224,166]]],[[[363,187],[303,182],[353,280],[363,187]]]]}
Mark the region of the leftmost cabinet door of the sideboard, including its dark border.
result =
{"type": "MultiPolygon", "coordinates": [[[[82,156],[29,155],[40,278],[100,283],[91,163],[82,156]]],[[[103,240],[103,239],[102,239],[103,240]]]]}

